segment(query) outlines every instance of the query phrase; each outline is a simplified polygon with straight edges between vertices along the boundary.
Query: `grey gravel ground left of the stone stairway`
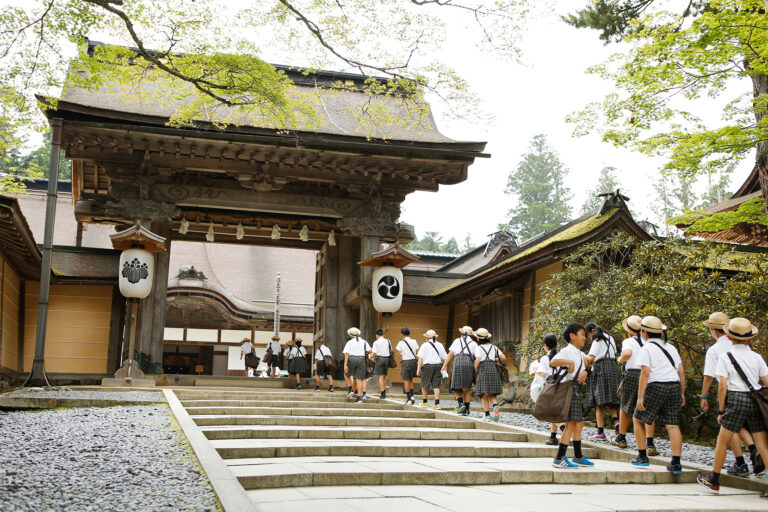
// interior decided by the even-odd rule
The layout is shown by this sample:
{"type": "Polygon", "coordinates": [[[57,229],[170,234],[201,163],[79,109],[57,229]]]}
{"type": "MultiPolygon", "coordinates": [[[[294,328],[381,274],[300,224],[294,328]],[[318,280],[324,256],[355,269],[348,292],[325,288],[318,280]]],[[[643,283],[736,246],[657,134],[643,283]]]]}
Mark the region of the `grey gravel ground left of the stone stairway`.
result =
{"type": "Polygon", "coordinates": [[[0,411],[0,447],[3,511],[220,509],[166,405],[0,411]]]}

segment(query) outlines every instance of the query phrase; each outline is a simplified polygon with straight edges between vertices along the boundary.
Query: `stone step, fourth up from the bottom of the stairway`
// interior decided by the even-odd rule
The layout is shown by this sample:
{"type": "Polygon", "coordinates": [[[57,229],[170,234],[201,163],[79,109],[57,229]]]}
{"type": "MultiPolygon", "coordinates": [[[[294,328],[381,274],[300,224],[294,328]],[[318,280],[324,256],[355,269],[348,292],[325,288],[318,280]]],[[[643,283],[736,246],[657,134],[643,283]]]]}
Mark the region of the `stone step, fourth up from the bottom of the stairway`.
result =
{"type": "MultiPolygon", "coordinates": [[[[190,413],[191,414],[191,413],[190,413]]],[[[355,426],[355,427],[432,427],[480,429],[480,424],[466,420],[431,418],[383,418],[352,416],[257,416],[252,414],[192,415],[198,426],[212,425],[292,425],[292,426],[355,426]]]]}

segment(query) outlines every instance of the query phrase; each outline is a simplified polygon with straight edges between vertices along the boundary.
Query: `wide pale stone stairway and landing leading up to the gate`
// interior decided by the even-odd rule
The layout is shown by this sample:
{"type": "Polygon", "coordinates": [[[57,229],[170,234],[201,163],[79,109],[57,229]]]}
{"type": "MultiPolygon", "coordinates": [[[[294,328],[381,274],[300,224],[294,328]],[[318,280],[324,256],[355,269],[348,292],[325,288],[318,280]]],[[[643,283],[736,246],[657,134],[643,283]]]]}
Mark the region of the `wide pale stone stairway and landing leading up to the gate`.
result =
{"type": "Polygon", "coordinates": [[[754,491],[710,493],[694,483],[696,469],[675,476],[663,465],[636,468],[631,454],[590,443],[594,467],[556,469],[555,447],[538,435],[401,401],[356,404],[343,392],[277,389],[172,393],[209,476],[245,490],[250,506],[222,499],[227,510],[768,509],[754,491]]]}

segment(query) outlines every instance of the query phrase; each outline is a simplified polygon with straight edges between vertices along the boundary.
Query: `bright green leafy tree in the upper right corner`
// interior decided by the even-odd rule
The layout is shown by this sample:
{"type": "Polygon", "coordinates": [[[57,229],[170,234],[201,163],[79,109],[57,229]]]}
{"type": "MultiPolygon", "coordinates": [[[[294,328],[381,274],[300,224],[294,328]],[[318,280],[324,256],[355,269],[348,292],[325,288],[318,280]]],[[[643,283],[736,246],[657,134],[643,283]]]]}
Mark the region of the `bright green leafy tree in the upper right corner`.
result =
{"type": "MultiPolygon", "coordinates": [[[[585,2],[586,3],[586,2],[585,2]]],[[[768,25],[763,0],[591,1],[566,22],[600,31],[627,49],[591,72],[617,92],[570,117],[579,134],[667,157],[666,171],[711,174],[756,149],[768,198],[768,25]],[[741,84],[741,87],[736,87],[741,84]],[[696,101],[721,101],[722,121],[695,115],[696,101]]]]}

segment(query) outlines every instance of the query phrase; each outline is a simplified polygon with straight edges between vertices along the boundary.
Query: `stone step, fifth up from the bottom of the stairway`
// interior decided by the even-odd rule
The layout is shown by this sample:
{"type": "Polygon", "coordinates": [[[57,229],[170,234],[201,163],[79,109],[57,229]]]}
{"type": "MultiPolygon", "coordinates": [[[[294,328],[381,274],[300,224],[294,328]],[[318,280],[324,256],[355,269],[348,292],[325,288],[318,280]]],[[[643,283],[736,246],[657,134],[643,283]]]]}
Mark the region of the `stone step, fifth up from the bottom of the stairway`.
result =
{"type": "MultiPolygon", "coordinates": [[[[434,412],[424,410],[391,410],[391,409],[367,409],[360,407],[340,408],[326,407],[323,409],[293,409],[290,407],[187,407],[190,415],[201,414],[256,414],[263,416],[355,416],[355,417],[380,417],[380,418],[423,418],[435,417],[434,412]]],[[[474,423],[464,420],[467,423],[474,423]]]]}

